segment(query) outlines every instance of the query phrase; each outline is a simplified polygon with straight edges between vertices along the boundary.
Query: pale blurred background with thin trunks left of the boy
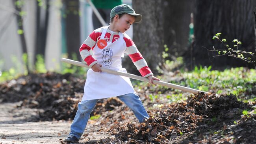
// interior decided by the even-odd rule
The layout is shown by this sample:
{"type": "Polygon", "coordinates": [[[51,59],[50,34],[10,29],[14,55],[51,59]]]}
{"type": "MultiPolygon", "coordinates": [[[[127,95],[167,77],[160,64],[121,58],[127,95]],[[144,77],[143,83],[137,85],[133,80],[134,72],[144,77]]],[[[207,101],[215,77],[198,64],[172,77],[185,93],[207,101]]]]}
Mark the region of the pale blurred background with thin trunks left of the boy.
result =
{"type": "Polygon", "coordinates": [[[92,13],[86,0],[0,0],[0,70],[24,71],[23,54],[32,70],[40,59],[47,70],[59,70],[63,55],[80,60],[80,45],[94,30],[92,13]]]}

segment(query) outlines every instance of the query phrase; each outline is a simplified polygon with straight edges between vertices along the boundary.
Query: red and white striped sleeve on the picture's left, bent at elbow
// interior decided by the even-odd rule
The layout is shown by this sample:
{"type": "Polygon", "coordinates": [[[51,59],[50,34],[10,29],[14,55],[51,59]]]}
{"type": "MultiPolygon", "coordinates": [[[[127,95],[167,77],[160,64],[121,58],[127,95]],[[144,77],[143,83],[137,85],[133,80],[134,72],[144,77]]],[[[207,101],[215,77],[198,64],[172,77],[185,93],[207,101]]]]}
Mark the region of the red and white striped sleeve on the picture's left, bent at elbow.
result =
{"type": "Polygon", "coordinates": [[[83,42],[79,51],[82,59],[87,63],[87,65],[91,68],[93,65],[98,63],[91,55],[90,50],[95,47],[98,36],[102,33],[102,29],[96,29],[93,31],[88,38],[83,42]]]}

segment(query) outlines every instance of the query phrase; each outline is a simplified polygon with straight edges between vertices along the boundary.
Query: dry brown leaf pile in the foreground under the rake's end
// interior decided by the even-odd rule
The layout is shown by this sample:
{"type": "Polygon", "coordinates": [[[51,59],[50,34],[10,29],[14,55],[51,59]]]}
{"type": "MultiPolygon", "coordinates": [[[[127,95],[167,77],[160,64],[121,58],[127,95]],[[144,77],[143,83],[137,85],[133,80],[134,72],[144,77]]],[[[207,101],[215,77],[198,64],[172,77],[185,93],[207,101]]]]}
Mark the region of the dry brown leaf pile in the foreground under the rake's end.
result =
{"type": "MultiPolygon", "coordinates": [[[[169,105],[144,123],[128,124],[115,137],[130,143],[168,143],[194,132],[200,125],[210,125],[208,121],[211,119],[227,115],[229,110],[236,108],[246,109],[248,106],[237,101],[235,95],[198,93],[189,96],[187,101],[169,105]]],[[[222,121],[226,121],[228,117],[222,121]]]]}

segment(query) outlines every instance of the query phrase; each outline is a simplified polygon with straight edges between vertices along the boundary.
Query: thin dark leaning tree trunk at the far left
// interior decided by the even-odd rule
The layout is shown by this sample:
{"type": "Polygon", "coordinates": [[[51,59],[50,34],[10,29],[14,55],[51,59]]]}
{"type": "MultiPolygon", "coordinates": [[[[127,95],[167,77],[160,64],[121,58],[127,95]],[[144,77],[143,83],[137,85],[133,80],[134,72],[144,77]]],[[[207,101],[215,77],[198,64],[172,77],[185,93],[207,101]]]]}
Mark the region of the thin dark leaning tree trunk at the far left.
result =
{"type": "MultiPolygon", "coordinates": [[[[18,0],[13,0],[13,4],[15,6],[15,9],[17,11],[22,11],[21,9],[21,6],[22,5],[17,5],[18,0]]],[[[17,25],[18,25],[18,31],[19,32],[19,36],[20,36],[20,42],[21,42],[21,47],[22,47],[22,54],[28,54],[28,50],[27,50],[27,44],[26,44],[26,38],[25,38],[25,35],[24,35],[24,29],[23,29],[23,18],[20,14],[17,14],[16,15],[16,19],[17,19],[17,25]]],[[[25,62],[25,66],[26,66],[26,69],[28,70],[28,73],[30,73],[30,69],[29,69],[29,66],[28,66],[28,62],[29,59],[27,59],[27,62],[25,62]]]]}

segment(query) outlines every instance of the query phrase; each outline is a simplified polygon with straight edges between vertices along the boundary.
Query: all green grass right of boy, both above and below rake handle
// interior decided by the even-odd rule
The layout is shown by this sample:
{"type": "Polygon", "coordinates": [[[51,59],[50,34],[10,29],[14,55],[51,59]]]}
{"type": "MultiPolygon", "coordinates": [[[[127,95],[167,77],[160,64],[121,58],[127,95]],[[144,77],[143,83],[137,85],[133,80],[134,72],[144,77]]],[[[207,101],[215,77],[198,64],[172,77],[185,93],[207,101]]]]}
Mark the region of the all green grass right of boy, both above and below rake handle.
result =
{"type": "MultiPolygon", "coordinates": [[[[223,71],[211,70],[211,67],[195,67],[193,71],[179,72],[174,77],[182,77],[181,81],[170,81],[172,77],[161,76],[162,81],[176,85],[186,86],[205,92],[217,94],[234,94],[243,102],[256,100],[256,70],[243,67],[230,68],[223,71]]],[[[186,100],[187,94],[180,90],[174,90],[160,85],[148,85],[140,81],[133,81],[137,89],[147,88],[152,102],[166,97],[170,102],[186,100]],[[170,92],[172,91],[172,92],[170,92]]]]}

